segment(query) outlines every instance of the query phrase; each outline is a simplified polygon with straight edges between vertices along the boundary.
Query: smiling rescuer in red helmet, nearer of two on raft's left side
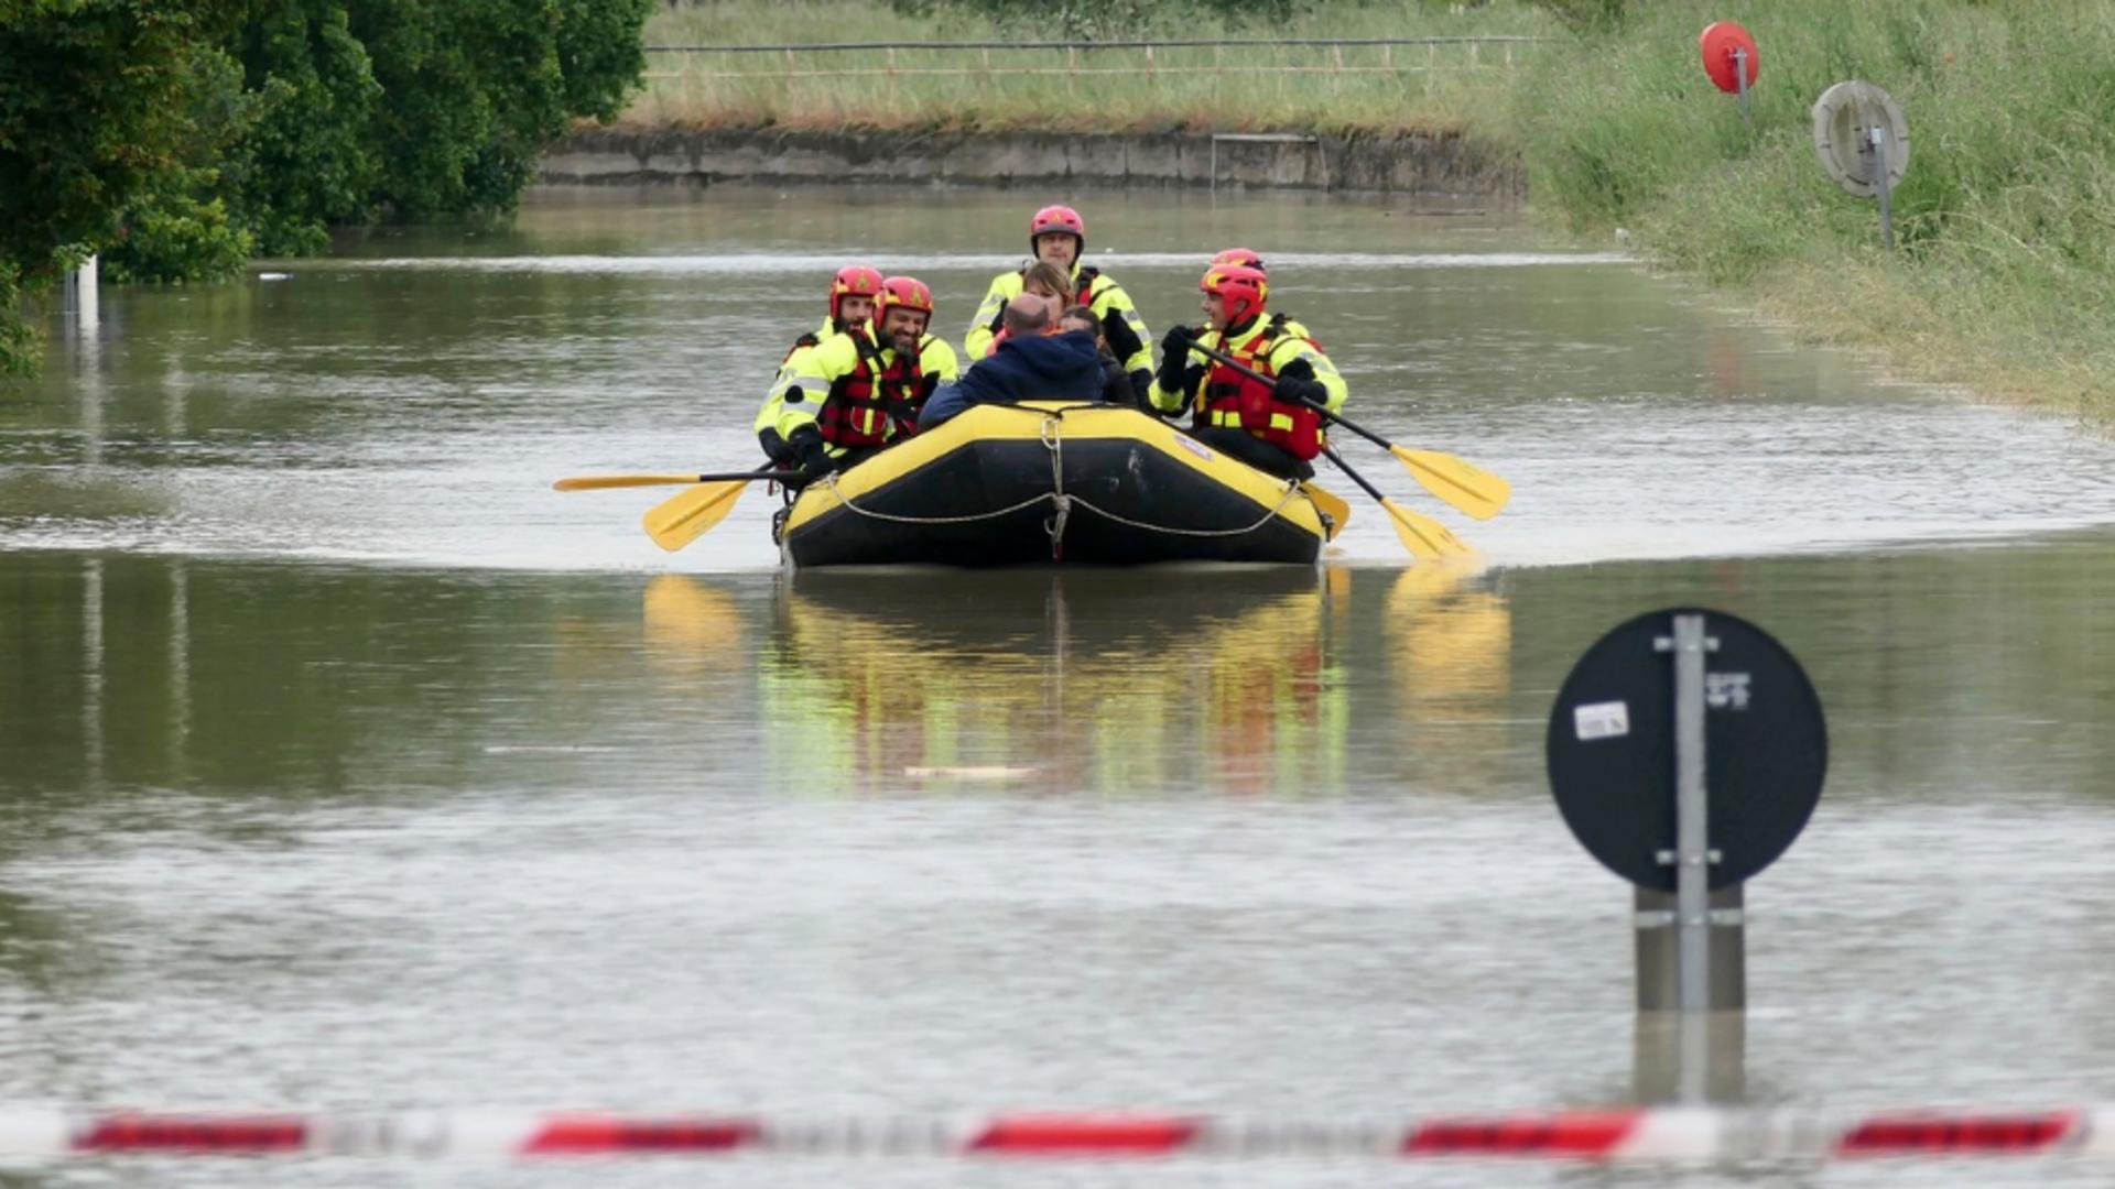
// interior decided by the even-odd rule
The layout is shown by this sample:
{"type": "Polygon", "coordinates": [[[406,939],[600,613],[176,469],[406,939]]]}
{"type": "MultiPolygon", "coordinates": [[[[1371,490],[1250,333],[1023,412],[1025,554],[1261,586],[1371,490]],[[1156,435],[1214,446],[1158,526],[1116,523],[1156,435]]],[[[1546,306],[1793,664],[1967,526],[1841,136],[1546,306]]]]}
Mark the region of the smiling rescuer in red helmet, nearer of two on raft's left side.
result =
{"type": "Polygon", "coordinates": [[[799,484],[916,434],[926,398],[960,370],[931,324],[933,290],[888,277],[873,300],[871,336],[848,326],[795,347],[757,413],[757,440],[772,463],[799,470],[799,484]]]}

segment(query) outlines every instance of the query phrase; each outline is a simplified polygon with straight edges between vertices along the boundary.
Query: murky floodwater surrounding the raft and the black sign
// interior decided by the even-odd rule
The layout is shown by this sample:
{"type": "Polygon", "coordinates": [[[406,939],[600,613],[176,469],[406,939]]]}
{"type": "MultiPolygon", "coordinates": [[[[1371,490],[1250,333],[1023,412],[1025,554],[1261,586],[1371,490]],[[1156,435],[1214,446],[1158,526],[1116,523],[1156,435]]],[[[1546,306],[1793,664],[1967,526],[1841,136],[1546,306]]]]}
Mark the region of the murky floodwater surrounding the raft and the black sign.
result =
{"type": "MultiPolygon", "coordinates": [[[[550,491],[753,465],[749,419],[838,262],[916,269],[958,336],[1041,201],[556,193],[501,233],[106,292],[91,345],[0,396],[0,1100],[1345,1119],[1654,1098],[1631,897],[1565,831],[1542,747],[1580,652],[1681,603],[1777,633],[1829,717],[1821,810],[1747,893],[1732,1094],[2107,1094],[2115,446],[2073,425],[1887,385],[1508,216],[1087,195],[1089,248],[1155,332],[1193,315],[1206,254],[1256,248],[1354,417],[1510,478],[1512,508],[1470,523],[1345,444],[1489,565],[1404,567],[1358,501],[1320,571],[795,575],[761,491],[681,554],[637,529],[673,489],[550,491]]],[[[1802,1174],[2064,1176],[2092,1183],[1802,1174]]]]}

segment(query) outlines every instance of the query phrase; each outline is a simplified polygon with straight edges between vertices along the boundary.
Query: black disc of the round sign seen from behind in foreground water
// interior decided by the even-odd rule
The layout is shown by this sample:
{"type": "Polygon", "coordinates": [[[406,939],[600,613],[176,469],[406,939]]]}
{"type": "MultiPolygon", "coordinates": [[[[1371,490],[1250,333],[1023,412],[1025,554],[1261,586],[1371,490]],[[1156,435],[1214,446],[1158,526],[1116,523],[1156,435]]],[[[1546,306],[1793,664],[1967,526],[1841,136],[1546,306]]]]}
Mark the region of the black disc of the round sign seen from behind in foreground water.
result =
{"type": "Polygon", "coordinates": [[[1724,611],[1675,607],[1601,637],[1550,711],[1550,789],[1565,825],[1618,876],[1675,891],[1675,616],[1703,616],[1705,787],[1711,886],[1736,884],[1791,846],[1829,766],[1821,698],[1768,633],[1724,611]]]}

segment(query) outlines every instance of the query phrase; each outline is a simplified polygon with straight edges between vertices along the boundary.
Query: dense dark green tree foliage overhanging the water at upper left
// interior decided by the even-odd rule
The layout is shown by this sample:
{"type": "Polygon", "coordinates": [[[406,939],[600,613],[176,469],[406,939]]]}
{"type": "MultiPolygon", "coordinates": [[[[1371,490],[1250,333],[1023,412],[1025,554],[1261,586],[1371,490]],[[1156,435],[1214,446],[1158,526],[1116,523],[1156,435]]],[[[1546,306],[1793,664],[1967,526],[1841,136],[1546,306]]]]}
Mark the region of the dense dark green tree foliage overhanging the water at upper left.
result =
{"type": "Polygon", "coordinates": [[[510,212],[613,118],[654,0],[0,0],[0,372],[68,252],[199,279],[374,218],[510,212]]]}

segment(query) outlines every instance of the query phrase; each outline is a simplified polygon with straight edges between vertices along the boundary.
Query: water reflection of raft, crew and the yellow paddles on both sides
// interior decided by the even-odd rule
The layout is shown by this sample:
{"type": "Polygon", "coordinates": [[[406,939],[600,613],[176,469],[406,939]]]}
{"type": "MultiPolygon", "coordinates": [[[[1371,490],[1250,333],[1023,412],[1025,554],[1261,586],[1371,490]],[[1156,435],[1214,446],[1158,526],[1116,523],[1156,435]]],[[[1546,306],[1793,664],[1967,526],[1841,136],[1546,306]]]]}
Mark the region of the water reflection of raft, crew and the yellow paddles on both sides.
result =
{"type": "Polygon", "coordinates": [[[1504,779],[1512,618],[1459,571],[799,569],[662,575],[656,669],[757,724],[766,787],[1309,798],[1504,779]],[[747,705],[753,685],[755,705],[747,705]]]}

